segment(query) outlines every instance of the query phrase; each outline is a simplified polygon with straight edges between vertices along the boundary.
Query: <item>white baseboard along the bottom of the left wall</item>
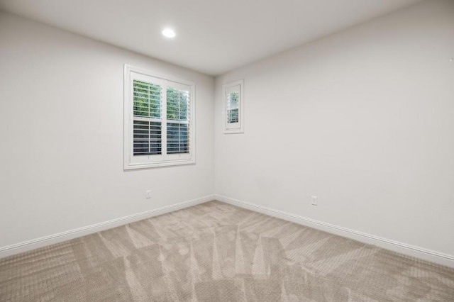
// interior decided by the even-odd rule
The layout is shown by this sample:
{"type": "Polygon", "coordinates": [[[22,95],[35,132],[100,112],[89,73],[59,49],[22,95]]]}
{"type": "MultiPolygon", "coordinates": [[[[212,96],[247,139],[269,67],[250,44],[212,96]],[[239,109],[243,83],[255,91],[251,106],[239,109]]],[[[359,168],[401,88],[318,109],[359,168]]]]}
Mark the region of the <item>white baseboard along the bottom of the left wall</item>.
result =
{"type": "Polygon", "coordinates": [[[0,258],[15,255],[21,252],[27,252],[29,250],[35,250],[38,247],[44,247],[46,245],[52,245],[54,243],[63,242],[65,240],[74,239],[77,237],[82,237],[84,235],[89,235],[92,233],[100,232],[101,230],[107,230],[109,228],[115,228],[119,225],[126,225],[128,223],[133,223],[138,220],[145,218],[150,218],[153,216],[162,215],[172,211],[177,211],[182,208],[188,208],[189,206],[195,206],[199,203],[204,203],[206,201],[214,200],[214,195],[204,196],[200,198],[195,198],[189,201],[183,201],[181,203],[173,204],[172,206],[164,206],[162,208],[155,208],[154,210],[145,211],[142,213],[133,214],[130,216],[125,216],[121,218],[112,219],[109,221],[104,221],[102,223],[95,223],[94,225],[87,225],[82,228],[76,228],[74,230],[67,230],[62,233],[57,233],[54,235],[48,235],[33,240],[28,240],[24,242],[19,242],[14,245],[7,245],[6,247],[0,247],[0,258]]]}

